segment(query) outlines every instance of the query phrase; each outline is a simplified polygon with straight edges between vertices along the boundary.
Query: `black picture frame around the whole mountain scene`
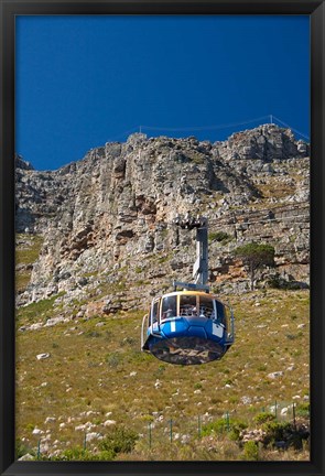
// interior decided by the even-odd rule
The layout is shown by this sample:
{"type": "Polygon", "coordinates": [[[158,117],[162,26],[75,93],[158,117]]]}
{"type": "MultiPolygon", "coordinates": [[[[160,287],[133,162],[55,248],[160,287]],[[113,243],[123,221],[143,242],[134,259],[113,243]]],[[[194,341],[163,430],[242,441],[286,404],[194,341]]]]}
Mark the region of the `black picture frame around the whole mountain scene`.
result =
{"type": "MultiPolygon", "coordinates": [[[[0,0],[0,474],[1,475],[324,475],[324,0],[0,0]],[[311,19],[311,461],[15,462],[14,461],[14,22],[31,14],[307,14],[311,19]]],[[[299,74],[299,73],[297,73],[299,74]]]]}

